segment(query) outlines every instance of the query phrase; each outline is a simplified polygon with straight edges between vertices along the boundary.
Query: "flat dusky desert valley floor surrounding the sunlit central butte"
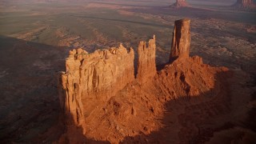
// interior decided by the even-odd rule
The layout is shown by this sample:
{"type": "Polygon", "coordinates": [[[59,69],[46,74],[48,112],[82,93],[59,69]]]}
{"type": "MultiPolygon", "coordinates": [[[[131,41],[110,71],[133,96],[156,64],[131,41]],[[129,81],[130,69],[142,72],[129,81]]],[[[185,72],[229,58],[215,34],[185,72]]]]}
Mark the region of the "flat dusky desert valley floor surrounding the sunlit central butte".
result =
{"type": "MultiPolygon", "coordinates": [[[[120,142],[161,142],[155,139],[168,139],[166,133],[171,135],[171,140],[164,142],[177,142],[177,138],[184,140],[181,143],[255,142],[255,11],[234,10],[230,7],[232,0],[191,0],[191,7],[180,9],[171,8],[172,2],[108,0],[70,4],[66,1],[2,0],[0,143],[62,142],[59,138],[65,129],[59,123],[57,75],[65,70],[69,50],[82,48],[93,53],[122,43],[126,48],[134,48],[136,60],[138,43],[148,41],[155,34],[156,65],[162,70],[169,61],[174,21],[181,18],[191,20],[190,55],[202,57],[207,65],[226,66],[232,71],[220,74],[216,81],[218,84],[226,79],[218,89],[225,90],[229,98],[216,98],[213,102],[200,102],[200,97],[191,101],[169,99],[166,107],[162,106],[166,111],[159,112],[159,118],[153,116],[149,120],[159,127],[145,128],[142,133],[134,133],[137,136],[123,138],[120,142]],[[175,126],[183,129],[175,131],[175,126]],[[190,130],[196,134],[191,135],[190,130]],[[184,135],[178,135],[181,133],[184,135]]],[[[127,86],[127,89],[134,87],[127,86]]],[[[154,90],[149,91],[154,94],[154,90]]],[[[118,94],[122,93],[126,91],[118,94]]],[[[140,94],[138,91],[131,93],[140,94]]],[[[125,101],[125,98],[118,98],[121,98],[118,102],[125,101]]],[[[93,124],[97,127],[97,123],[93,124]]],[[[115,122],[113,126],[119,131],[122,129],[115,122]]],[[[90,131],[90,127],[86,128],[90,131]]],[[[100,140],[100,136],[94,138],[92,133],[86,137],[88,142],[100,140]]]]}

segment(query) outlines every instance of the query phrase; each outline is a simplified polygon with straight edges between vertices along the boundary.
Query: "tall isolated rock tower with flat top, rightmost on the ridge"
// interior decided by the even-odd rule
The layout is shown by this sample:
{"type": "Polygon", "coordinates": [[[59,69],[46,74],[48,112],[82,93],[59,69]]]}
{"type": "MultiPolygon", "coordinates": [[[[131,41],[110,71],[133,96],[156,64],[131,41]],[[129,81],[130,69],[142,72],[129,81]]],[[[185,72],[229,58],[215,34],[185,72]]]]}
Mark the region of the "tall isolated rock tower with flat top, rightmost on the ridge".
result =
{"type": "Polygon", "coordinates": [[[190,20],[175,21],[174,33],[170,50],[170,62],[178,57],[190,55],[190,20]]]}

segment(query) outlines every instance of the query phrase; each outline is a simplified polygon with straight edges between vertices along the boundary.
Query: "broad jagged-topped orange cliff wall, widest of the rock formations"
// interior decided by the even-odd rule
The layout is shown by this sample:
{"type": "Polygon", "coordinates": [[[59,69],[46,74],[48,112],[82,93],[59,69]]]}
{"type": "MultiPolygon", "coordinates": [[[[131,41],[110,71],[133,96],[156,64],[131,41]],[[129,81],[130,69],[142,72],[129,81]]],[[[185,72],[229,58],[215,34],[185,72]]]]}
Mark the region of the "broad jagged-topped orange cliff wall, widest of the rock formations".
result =
{"type": "Polygon", "coordinates": [[[66,72],[59,77],[59,99],[67,125],[84,125],[86,102],[82,99],[106,101],[134,80],[134,50],[122,45],[110,50],[70,50],[66,72]],[[74,123],[73,123],[74,122],[74,123]]]}

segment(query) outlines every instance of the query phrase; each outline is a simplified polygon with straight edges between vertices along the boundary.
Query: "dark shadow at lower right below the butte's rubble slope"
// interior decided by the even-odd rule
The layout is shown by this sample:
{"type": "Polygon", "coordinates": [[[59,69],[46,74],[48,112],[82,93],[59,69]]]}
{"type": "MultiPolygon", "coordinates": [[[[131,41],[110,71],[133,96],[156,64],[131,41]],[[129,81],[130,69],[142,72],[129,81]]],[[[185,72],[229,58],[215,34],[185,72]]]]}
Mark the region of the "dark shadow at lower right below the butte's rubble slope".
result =
{"type": "MultiPolygon", "coordinates": [[[[162,128],[150,134],[142,131],[138,136],[126,137],[122,143],[214,143],[215,139],[224,143],[254,143],[255,108],[247,110],[246,117],[241,122],[233,119],[233,114],[239,114],[232,110],[235,107],[232,105],[233,101],[240,101],[238,107],[246,103],[232,99],[228,81],[232,75],[233,72],[230,71],[220,72],[214,76],[216,81],[212,90],[193,97],[184,95],[182,98],[166,101],[162,128]],[[213,94],[214,91],[217,93],[213,94]]],[[[254,95],[255,93],[251,94],[252,97],[254,95]]],[[[246,98],[246,94],[241,97],[246,98]]],[[[255,99],[251,102],[255,102],[255,99]]]]}

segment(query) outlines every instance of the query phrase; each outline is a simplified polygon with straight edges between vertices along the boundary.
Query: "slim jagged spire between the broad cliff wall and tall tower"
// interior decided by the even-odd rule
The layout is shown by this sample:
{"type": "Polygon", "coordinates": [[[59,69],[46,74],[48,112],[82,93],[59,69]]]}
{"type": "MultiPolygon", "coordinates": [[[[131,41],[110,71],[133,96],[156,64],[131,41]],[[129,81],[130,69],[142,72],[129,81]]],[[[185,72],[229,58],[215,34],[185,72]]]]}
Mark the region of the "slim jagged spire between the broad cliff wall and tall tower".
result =
{"type": "Polygon", "coordinates": [[[140,42],[138,45],[137,79],[140,83],[150,81],[156,74],[155,49],[155,36],[153,39],[150,39],[148,47],[146,47],[146,42],[140,42]]]}

